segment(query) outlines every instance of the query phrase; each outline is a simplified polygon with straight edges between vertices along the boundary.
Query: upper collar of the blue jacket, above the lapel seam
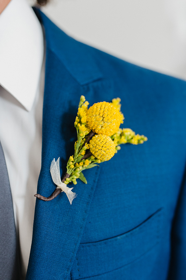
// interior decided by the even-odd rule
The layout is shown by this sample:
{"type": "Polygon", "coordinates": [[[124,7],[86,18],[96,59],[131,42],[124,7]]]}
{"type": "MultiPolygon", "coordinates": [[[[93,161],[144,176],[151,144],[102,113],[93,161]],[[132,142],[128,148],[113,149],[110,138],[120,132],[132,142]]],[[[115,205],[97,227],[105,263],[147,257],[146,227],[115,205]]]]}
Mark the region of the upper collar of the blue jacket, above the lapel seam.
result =
{"type": "Polygon", "coordinates": [[[80,85],[91,83],[103,77],[95,63],[94,48],[82,44],[60,30],[37,8],[33,8],[44,25],[47,48],[58,56],[61,62],[80,85]]]}

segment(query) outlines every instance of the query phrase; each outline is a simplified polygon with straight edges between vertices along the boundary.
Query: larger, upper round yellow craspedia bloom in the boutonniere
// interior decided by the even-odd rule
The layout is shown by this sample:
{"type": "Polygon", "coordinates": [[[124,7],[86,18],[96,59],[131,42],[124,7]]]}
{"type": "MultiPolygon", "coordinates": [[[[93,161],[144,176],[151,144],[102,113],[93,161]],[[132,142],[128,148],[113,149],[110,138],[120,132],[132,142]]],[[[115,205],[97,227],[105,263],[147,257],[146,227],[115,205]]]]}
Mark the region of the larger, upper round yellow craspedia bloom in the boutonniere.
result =
{"type": "Polygon", "coordinates": [[[109,102],[92,105],[87,113],[87,126],[97,134],[111,136],[123,122],[123,114],[109,102]]]}

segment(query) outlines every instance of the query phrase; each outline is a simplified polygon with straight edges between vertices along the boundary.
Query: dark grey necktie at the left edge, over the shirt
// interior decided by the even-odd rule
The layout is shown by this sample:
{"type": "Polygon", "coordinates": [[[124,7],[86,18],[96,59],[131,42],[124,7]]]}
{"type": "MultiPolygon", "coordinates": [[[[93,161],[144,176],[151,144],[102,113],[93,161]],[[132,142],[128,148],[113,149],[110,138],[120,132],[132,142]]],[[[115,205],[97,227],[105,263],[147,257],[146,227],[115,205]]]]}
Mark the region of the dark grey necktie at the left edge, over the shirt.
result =
{"type": "Polygon", "coordinates": [[[19,279],[19,258],[7,166],[0,142],[0,280],[19,279]]]}

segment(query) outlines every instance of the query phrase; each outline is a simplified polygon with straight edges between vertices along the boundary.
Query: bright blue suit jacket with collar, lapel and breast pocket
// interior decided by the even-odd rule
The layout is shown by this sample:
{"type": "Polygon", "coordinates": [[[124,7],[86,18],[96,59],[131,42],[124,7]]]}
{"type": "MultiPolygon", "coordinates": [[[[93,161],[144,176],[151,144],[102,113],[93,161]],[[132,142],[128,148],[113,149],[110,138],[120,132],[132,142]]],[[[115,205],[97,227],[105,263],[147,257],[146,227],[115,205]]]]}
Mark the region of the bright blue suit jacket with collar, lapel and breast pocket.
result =
{"type": "Polygon", "coordinates": [[[64,193],[37,199],[26,279],[185,280],[186,82],[79,43],[36,12],[47,45],[38,193],[55,189],[53,158],[66,171],[81,95],[120,97],[123,127],[148,141],[86,170],[72,205],[64,193]]]}

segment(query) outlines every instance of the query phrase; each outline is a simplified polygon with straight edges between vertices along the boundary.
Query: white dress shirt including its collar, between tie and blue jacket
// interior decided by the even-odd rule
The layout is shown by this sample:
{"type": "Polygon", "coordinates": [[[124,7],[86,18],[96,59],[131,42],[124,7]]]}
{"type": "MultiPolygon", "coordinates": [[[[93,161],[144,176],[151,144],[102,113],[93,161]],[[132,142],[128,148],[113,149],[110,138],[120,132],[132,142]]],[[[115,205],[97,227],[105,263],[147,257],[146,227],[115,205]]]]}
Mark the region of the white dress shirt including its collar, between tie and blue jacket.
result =
{"type": "Polygon", "coordinates": [[[26,0],[0,14],[0,140],[5,154],[25,277],[41,169],[44,91],[42,27],[26,0]]]}

